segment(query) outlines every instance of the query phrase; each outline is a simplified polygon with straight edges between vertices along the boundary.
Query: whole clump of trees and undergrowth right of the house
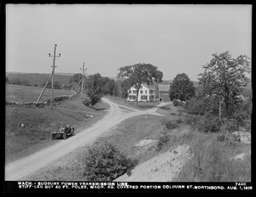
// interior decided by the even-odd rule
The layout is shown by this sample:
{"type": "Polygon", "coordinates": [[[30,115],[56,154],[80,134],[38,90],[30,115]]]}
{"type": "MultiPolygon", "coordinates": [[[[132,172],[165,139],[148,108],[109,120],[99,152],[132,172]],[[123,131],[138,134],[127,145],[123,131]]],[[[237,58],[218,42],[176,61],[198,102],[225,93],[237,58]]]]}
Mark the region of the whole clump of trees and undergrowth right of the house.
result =
{"type": "Polygon", "coordinates": [[[251,82],[251,67],[247,55],[232,58],[227,51],[213,53],[210,63],[202,65],[199,87],[195,89],[186,74],[178,74],[170,85],[170,99],[185,101],[183,107],[191,115],[213,115],[227,120],[250,119],[252,93],[244,99],[242,93],[251,82]]]}

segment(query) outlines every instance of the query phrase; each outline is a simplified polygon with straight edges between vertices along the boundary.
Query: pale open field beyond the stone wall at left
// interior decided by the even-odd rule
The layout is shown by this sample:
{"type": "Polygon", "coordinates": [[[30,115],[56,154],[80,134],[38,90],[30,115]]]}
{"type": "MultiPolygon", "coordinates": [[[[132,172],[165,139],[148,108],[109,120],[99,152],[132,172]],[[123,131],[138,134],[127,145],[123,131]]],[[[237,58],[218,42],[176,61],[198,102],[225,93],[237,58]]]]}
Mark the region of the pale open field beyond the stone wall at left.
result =
{"type": "MultiPolygon", "coordinates": [[[[6,84],[6,96],[7,101],[16,101],[16,102],[36,102],[40,93],[42,93],[43,87],[29,87],[29,86],[20,86],[6,84]]],[[[73,92],[69,90],[54,90],[54,96],[60,95],[70,95],[73,92]]],[[[43,97],[40,99],[44,101],[45,99],[51,96],[51,89],[46,88],[44,91],[43,97]]]]}

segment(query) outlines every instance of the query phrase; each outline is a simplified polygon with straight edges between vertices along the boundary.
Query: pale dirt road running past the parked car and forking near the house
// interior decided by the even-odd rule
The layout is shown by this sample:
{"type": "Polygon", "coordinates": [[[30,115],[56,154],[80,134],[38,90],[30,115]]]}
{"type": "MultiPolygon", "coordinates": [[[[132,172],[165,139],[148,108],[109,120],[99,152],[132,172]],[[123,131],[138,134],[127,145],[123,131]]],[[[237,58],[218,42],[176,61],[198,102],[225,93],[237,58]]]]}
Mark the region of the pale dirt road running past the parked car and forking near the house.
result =
{"type": "MultiPolygon", "coordinates": [[[[119,122],[124,121],[127,118],[143,114],[159,115],[156,113],[158,108],[147,111],[134,110],[130,108],[129,110],[132,111],[127,113],[127,111],[125,112],[119,108],[119,106],[122,105],[114,104],[107,98],[102,98],[102,100],[109,104],[110,108],[108,110],[108,114],[105,115],[101,121],[97,121],[95,125],[77,133],[72,138],[61,140],[48,148],[39,150],[33,155],[29,155],[20,160],[15,160],[14,162],[9,163],[7,166],[5,166],[5,180],[22,180],[22,177],[26,177],[29,174],[38,171],[38,169],[42,168],[43,166],[60,159],[62,156],[67,155],[73,150],[84,146],[84,144],[90,144],[103,132],[108,131],[111,127],[114,127],[115,125],[119,124],[119,122]]],[[[162,106],[164,104],[160,105],[162,106]]]]}

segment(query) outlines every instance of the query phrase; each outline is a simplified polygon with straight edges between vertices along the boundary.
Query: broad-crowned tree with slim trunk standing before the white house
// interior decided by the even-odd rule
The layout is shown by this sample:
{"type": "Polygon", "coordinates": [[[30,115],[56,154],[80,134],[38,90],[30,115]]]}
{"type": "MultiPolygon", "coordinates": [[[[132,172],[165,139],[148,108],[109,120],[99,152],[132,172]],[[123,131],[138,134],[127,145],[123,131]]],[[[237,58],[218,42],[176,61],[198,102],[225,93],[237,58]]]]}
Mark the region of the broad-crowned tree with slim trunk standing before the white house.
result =
{"type": "MultiPolygon", "coordinates": [[[[118,77],[127,80],[127,82],[137,89],[137,96],[143,83],[148,86],[154,85],[154,82],[162,82],[163,73],[157,70],[157,66],[150,64],[125,65],[119,68],[118,77]]],[[[137,97],[136,97],[137,106],[137,97]]]]}

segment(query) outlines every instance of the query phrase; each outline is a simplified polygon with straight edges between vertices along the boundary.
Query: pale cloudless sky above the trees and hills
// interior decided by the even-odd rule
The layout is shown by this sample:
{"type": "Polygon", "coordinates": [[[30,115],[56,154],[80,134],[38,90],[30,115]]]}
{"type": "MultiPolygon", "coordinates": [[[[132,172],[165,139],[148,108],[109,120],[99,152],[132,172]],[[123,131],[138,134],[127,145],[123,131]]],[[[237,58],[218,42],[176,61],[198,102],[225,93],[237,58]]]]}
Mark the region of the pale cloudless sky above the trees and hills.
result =
{"type": "Polygon", "coordinates": [[[213,53],[251,58],[252,5],[7,4],[6,71],[117,76],[151,64],[193,81],[213,53]]]}

